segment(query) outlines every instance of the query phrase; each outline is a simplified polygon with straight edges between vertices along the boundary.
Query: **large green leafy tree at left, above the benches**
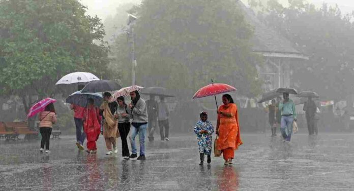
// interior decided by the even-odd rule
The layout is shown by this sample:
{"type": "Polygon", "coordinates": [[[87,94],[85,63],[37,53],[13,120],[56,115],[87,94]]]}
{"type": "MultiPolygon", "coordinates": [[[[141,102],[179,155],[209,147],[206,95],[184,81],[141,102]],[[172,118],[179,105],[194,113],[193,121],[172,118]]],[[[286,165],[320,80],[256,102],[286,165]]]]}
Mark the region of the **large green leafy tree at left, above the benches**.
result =
{"type": "Polygon", "coordinates": [[[85,11],[76,0],[0,1],[0,94],[20,96],[27,112],[64,74],[107,75],[103,24],[85,11]]]}

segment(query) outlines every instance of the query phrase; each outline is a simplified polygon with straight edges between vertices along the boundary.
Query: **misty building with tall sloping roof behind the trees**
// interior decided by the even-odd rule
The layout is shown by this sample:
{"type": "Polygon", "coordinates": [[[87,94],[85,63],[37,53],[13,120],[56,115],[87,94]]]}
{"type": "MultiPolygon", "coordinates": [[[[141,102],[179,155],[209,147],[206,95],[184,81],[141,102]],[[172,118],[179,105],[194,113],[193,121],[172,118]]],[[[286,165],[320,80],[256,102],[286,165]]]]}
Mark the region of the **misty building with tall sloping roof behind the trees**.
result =
{"type": "Polygon", "coordinates": [[[238,4],[245,12],[245,19],[254,27],[252,50],[264,56],[264,63],[256,66],[259,78],[264,82],[263,91],[293,87],[292,69],[304,60],[309,60],[308,56],[294,49],[290,41],[257,19],[241,1],[238,4]]]}

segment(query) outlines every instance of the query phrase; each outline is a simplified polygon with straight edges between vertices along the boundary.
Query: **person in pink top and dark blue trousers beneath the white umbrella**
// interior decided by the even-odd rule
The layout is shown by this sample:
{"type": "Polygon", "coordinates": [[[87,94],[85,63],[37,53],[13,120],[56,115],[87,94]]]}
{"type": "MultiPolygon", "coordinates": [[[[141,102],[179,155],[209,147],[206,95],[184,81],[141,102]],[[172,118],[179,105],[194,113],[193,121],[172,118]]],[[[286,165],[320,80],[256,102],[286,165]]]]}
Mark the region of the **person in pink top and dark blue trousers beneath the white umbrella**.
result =
{"type": "MultiPolygon", "coordinates": [[[[78,85],[77,91],[82,90],[83,87],[84,85],[78,85]]],[[[85,110],[85,107],[71,104],[70,109],[74,110],[74,121],[76,126],[76,146],[79,150],[83,150],[84,148],[82,145],[83,145],[83,141],[86,138],[86,134],[82,129],[83,111],[85,110]]]]}

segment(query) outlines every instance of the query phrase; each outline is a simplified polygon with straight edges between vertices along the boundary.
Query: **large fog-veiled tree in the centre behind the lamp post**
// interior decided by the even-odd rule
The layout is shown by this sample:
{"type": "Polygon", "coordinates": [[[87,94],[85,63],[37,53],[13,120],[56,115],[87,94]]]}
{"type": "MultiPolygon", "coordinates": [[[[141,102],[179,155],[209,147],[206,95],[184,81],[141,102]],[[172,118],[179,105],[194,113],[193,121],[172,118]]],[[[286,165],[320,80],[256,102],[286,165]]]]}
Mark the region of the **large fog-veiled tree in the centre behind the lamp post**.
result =
{"type": "MultiPolygon", "coordinates": [[[[237,3],[145,0],[131,10],[135,24],[137,83],[196,90],[211,79],[235,85],[248,96],[259,93],[249,40],[253,34],[237,3]]],[[[123,81],[130,84],[129,39],[117,36],[112,53],[123,81]]]]}

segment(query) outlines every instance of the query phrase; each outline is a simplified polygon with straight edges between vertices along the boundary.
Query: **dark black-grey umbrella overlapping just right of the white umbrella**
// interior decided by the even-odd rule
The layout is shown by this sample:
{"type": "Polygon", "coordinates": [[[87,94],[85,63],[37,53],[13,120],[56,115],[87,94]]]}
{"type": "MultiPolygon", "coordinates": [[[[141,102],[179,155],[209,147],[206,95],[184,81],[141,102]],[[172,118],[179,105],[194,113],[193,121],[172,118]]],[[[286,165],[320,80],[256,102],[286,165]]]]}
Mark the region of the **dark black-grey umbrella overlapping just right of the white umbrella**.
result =
{"type": "Polygon", "coordinates": [[[122,86],[111,80],[99,80],[88,83],[82,90],[82,93],[111,92],[121,89],[122,86]]]}

